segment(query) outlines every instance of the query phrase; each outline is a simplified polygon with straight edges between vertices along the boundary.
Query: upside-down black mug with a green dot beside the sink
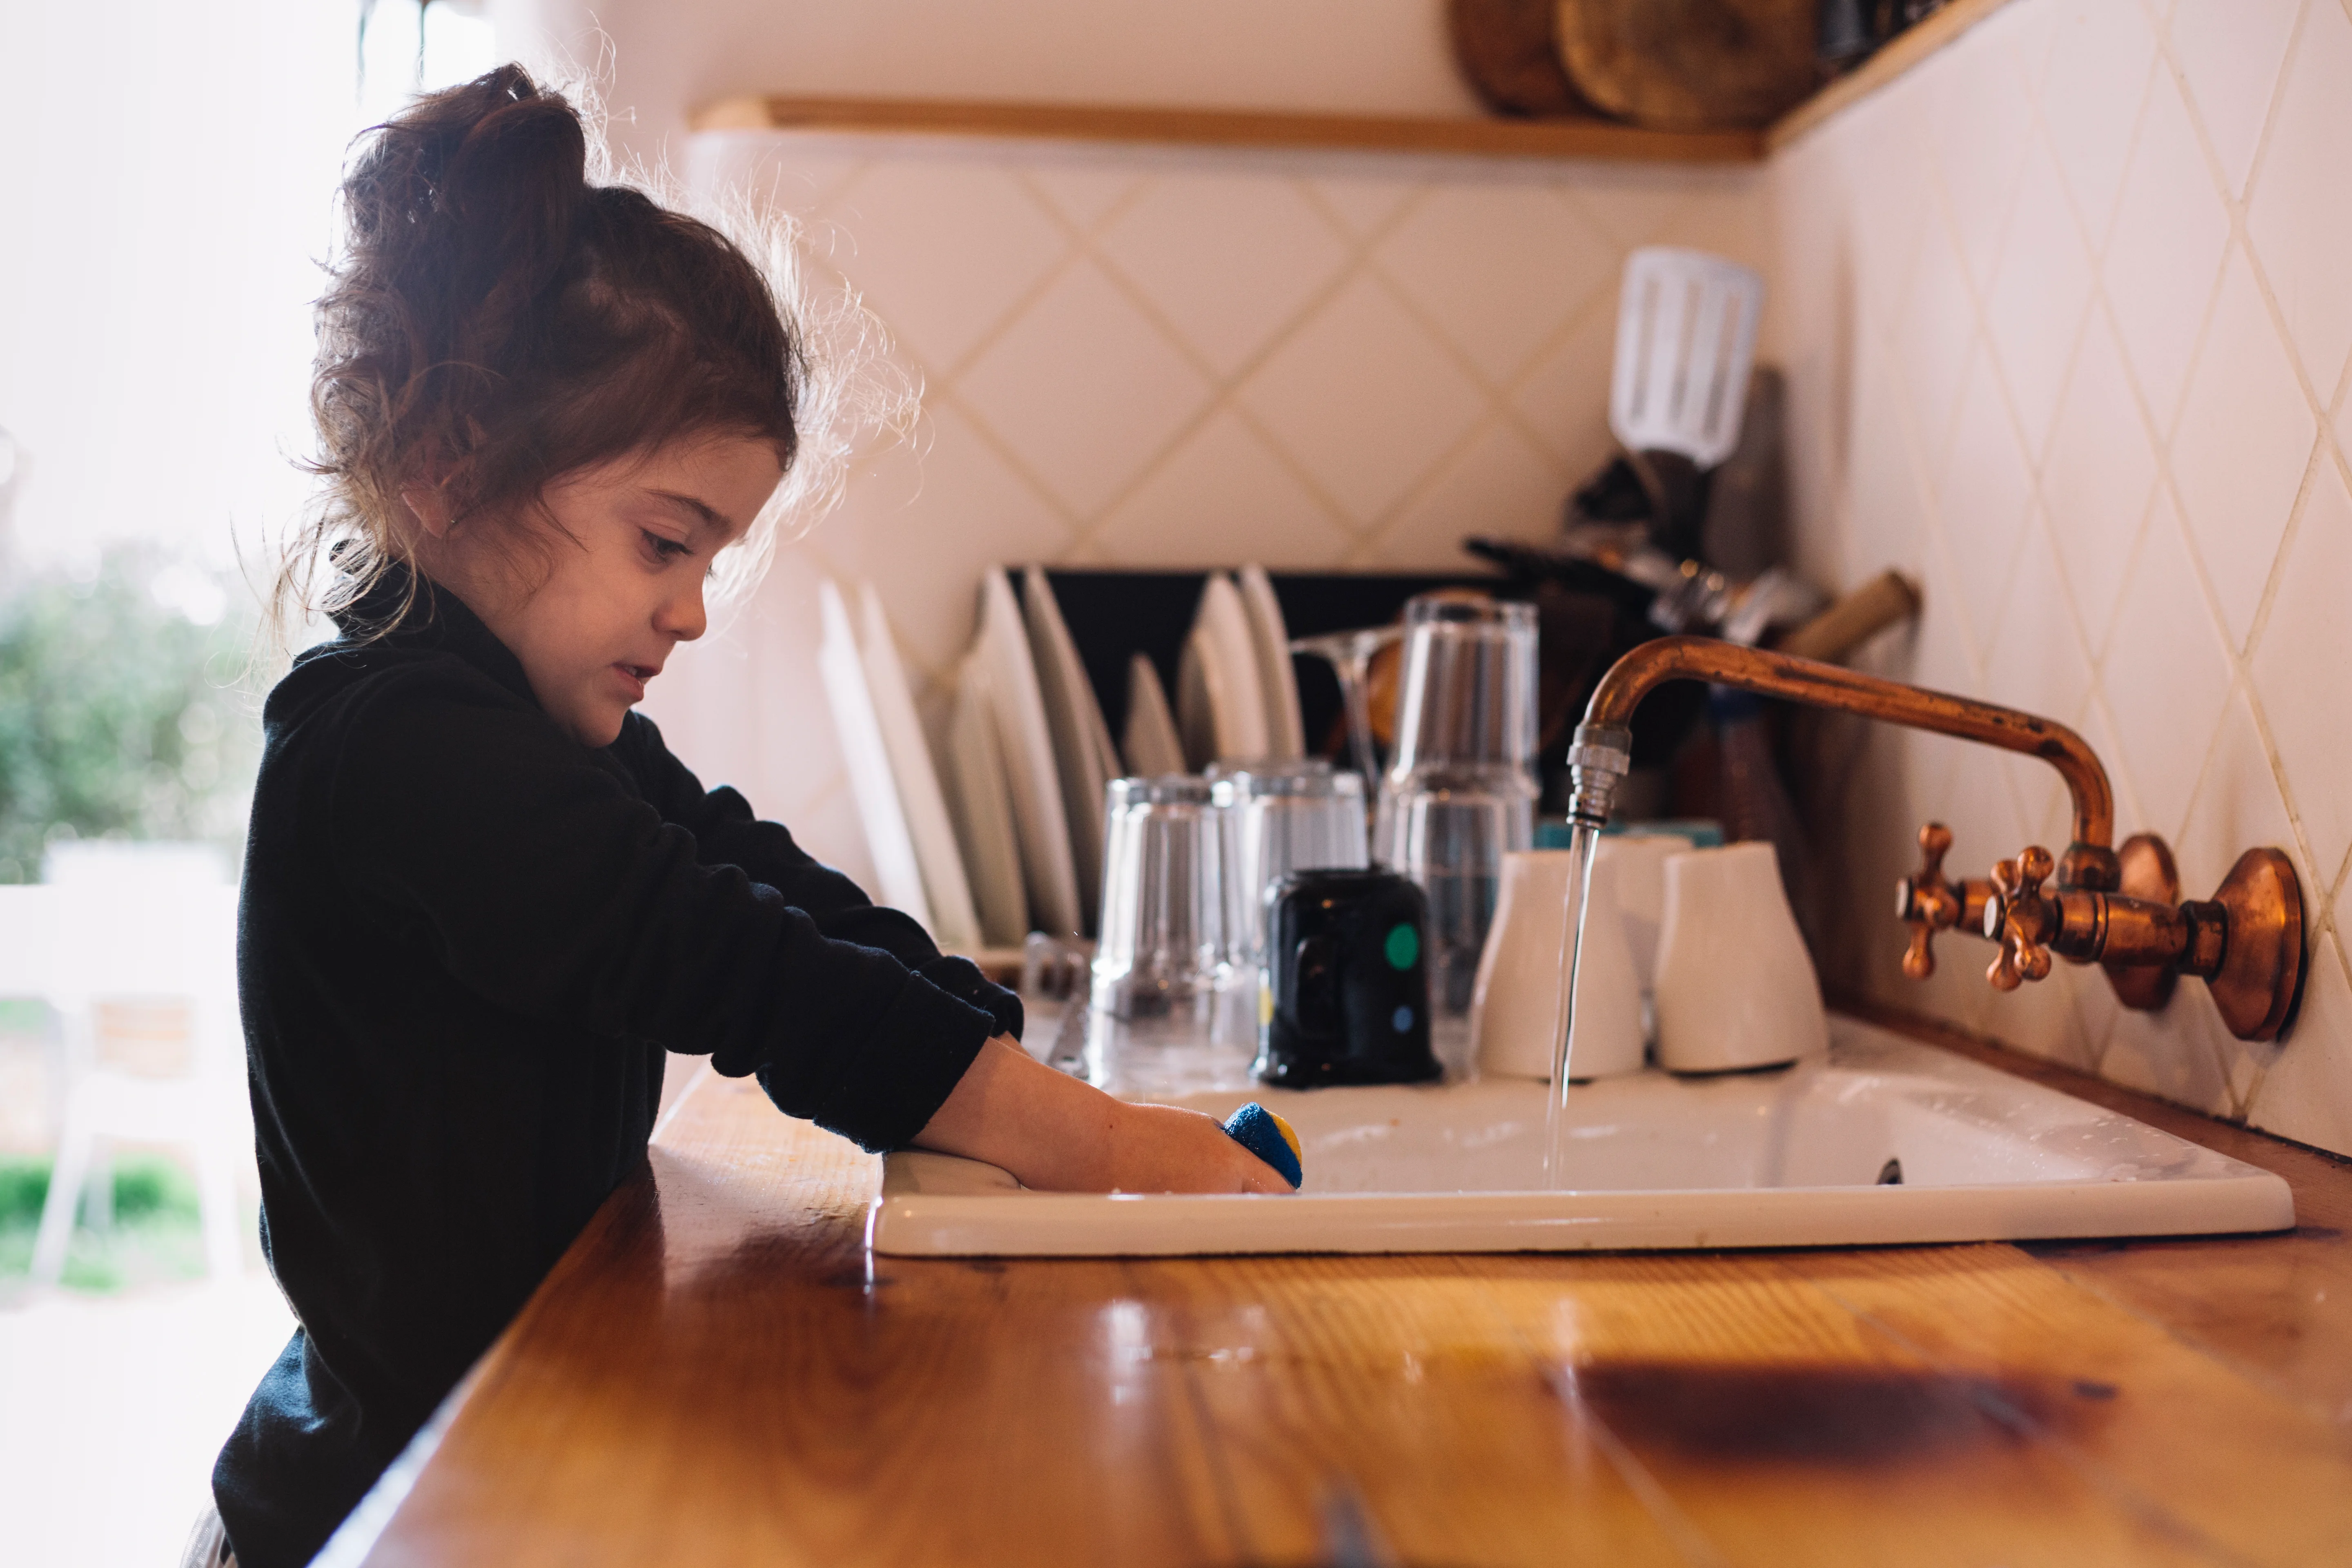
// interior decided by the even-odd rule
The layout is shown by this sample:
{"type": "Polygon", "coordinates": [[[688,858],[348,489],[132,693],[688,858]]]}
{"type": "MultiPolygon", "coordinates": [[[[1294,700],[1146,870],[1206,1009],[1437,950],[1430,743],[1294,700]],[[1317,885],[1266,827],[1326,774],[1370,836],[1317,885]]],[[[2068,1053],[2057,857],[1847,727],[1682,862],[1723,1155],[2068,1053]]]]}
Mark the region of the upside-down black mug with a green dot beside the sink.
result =
{"type": "Polygon", "coordinates": [[[1291,872],[1265,893],[1261,1084],[1425,1084],[1430,905],[1397,872],[1291,872]]]}

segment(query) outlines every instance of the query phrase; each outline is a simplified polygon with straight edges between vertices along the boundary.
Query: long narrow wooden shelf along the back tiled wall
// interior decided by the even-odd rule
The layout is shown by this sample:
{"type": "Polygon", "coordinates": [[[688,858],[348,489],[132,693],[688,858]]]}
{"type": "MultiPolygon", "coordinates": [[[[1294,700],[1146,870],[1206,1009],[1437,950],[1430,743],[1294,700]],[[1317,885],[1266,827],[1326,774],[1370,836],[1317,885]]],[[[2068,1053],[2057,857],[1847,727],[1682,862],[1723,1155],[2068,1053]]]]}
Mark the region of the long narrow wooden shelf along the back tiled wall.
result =
{"type": "Polygon", "coordinates": [[[1209,148],[1437,153],[1451,158],[1611,158],[1644,162],[1755,162],[1759,132],[1644,132],[1613,120],[1430,120],[1296,115],[1223,108],[1105,103],[993,103],[941,99],[722,99],[691,118],[696,132],[849,132],[861,136],[1007,136],[1209,148]]]}

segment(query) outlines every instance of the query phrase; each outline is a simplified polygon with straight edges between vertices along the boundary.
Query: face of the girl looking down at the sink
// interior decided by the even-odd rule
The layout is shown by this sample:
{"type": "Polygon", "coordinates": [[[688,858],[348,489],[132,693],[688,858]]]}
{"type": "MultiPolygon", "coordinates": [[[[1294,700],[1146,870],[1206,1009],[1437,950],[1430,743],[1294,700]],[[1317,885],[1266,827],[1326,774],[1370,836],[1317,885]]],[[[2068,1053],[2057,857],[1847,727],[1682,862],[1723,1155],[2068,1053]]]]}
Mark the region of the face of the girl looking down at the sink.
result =
{"type": "Polygon", "coordinates": [[[539,705],[574,741],[612,745],[670,649],[703,635],[710,557],[743,538],[781,480],[762,440],[670,442],[548,487],[546,508],[569,538],[546,538],[543,576],[489,529],[435,529],[426,505],[419,555],[522,661],[539,705]]]}

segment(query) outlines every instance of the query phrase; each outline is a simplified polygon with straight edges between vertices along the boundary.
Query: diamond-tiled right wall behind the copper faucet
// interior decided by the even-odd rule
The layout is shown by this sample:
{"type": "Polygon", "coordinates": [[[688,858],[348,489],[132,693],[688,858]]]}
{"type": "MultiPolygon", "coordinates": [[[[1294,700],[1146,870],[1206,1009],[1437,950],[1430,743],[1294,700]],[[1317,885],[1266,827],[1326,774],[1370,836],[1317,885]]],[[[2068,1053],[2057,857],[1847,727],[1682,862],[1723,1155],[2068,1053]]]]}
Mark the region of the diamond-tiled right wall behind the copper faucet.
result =
{"type": "Polygon", "coordinates": [[[2312,969],[2251,1046],[2197,985],[2124,1013],[2096,973],[1992,997],[1945,938],[1926,987],[1879,919],[1910,832],[1980,875],[2063,832],[2037,766],[1849,736],[1823,823],[1830,978],[2199,1110],[2352,1152],[2352,16],[2340,0],[2016,0],[1766,169],[1799,552],[1903,567],[1875,668],[2060,717],[2119,830],[2185,891],[2286,849],[2312,969]]]}

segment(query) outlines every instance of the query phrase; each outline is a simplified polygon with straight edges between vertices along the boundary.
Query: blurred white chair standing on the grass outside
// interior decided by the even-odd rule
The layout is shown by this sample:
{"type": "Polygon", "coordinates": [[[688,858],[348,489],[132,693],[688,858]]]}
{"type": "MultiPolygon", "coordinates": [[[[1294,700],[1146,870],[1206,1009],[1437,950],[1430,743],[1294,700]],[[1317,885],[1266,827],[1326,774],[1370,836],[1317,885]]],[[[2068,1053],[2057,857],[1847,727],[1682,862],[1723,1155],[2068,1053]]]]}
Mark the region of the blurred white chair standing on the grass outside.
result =
{"type": "Polygon", "coordinates": [[[235,1175],[252,1145],[235,992],[238,889],[172,875],[87,877],[0,889],[0,910],[9,903],[19,910],[0,917],[0,929],[45,926],[35,940],[45,947],[38,994],[66,1025],[64,1126],[33,1279],[56,1281],[64,1272],[73,1211],[92,1175],[111,1199],[113,1140],[193,1150],[205,1265],[233,1279],[245,1267],[235,1175]],[[127,1011],[183,1030],[181,1060],[169,1063],[176,1070],[120,1060],[127,1011]]]}

